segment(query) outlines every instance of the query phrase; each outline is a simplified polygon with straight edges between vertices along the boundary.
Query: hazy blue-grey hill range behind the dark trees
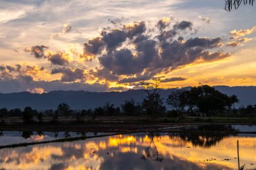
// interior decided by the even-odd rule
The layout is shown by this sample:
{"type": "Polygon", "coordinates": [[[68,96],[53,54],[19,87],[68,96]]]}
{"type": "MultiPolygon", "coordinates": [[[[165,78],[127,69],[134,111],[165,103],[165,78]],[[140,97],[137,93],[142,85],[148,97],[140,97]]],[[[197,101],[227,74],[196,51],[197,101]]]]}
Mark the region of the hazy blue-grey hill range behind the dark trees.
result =
{"type": "MultiPolygon", "coordinates": [[[[188,89],[189,87],[184,87],[188,89]]],[[[256,87],[228,87],[215,86],[216,89],[228,95],[237,95],[240,105],[256,104],[256,87]]],[[[176,89],[159,89],[161,96],[166,99],[167,96],[176,89]]],[[[135,102],[141,102],[146,97],[143,89],[128,90],[123,92],[90,92],[90,91],[50,91],[49,93],[0,93],[0,108],[25,108],[30,106],[37,110],[56,109],[59,103],[67,103],[72,109],[89,109],[105,105],[106,102],[120,106],[127,99],[134,99],[135,102]]],[[[165,101],[164,101],[165,103],[165,101]]],[[[166,103],[165,103],[166,104],[166,103]]]]}

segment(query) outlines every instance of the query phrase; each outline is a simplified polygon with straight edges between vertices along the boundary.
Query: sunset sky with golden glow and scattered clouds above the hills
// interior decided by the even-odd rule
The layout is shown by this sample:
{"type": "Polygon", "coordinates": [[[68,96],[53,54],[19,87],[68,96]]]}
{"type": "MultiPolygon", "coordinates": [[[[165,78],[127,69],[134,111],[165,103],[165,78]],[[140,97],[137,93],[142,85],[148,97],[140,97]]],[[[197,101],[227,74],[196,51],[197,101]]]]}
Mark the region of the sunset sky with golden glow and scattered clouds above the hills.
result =
{"type": "Polygon", "coordinates": [[[222,0],[0,0],[0,93],[255,85],[255,15],[222,0]]]}

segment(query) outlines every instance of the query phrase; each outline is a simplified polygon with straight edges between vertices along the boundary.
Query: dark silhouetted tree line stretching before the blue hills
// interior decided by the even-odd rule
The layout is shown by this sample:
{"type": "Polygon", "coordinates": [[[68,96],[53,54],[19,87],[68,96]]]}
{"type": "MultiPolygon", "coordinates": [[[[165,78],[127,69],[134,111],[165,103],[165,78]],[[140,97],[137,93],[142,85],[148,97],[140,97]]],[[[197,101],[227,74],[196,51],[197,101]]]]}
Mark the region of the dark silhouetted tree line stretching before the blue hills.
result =
{"type": "Polygon", "coordinates": [[[154,79],[152,83],[141,82],[147,93],[146,98],[141,103],[136,103],[130,99],[125,101],[121,107],[106,103],[102,107],[94,108],[94,110],[71,110],[67,103],[60,103],[56,110],[45,110],[44,112],[38,112],[38,110],[33,110],[30,107],[26,107],[24,110],[1,108],[0,118],[3,122],[3,117],[20,116],[24,123],[30,123],[43,122],[45,116],[50,116],[52,122],[58,122],[59,116],[64,119],[73,116],[77,122],[83,122],[85,118],[95,120],[98,116],[148,116],[150,120],[158,120],[161,117],[185,118],[185,116],[256,116],[256,105],[236,109],[234,103],[239,101],[236,95],[226,95],[209,85],[177,89],[172,91],[164,101],[158,92],[160,83],[160,79],[154,79]],[[164,102],[170,105],[172,109],[166,110],[164,102]]]}

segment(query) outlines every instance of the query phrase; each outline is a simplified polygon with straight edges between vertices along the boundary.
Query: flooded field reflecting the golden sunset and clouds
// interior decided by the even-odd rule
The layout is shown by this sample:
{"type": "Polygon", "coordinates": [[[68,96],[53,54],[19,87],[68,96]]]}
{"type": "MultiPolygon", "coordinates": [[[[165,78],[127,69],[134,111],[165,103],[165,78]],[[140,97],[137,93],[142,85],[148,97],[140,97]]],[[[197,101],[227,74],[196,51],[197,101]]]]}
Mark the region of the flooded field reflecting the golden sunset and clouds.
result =
{"type": "MultiPolygon", "coordinates": [[[[255,132],[256,126],[224,126],[255,132]]],[[[205,126],[203,127],[205,128],[205,126]]],[[[222,127],[223,128],[223,127],[222,127]]],[[[1,148],[5,169],[238,169],[256,168],[256,134],[140,132],[96,137],[102,133],[1,132],[0,145],[95,136],[73,142],[53,142],[1,148]]]]}

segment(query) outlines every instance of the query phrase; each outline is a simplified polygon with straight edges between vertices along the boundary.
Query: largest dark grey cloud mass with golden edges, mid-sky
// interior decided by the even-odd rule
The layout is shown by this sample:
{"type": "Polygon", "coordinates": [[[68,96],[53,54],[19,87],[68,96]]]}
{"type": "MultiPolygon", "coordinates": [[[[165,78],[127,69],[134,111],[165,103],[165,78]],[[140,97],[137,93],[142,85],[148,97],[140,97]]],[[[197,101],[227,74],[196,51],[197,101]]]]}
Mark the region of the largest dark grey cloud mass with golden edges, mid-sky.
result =
{"type": "Polygon", "coordinates": [[[195,37],[185,39],[184,34],[194,32],[193,23],[160,19],[155,25],[158,34],[146,32],[145,22],[134,22],[122,29],[104,31],[84,44],[85,51],[98,56],[100,66],[95,76],[109,81],[128,83],[136,79],[150,79],[155,75],[189,64],[213,62],[230,56],[214,52],[223,46],[221,38],[195,37]],[[140,73],[149,73],[140,75],[140,73]],[[137,76],[135,76],[137,75],[137,76]],[[119,79],[120,76],[126,78],[119,79]]]}

